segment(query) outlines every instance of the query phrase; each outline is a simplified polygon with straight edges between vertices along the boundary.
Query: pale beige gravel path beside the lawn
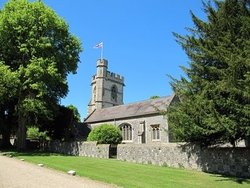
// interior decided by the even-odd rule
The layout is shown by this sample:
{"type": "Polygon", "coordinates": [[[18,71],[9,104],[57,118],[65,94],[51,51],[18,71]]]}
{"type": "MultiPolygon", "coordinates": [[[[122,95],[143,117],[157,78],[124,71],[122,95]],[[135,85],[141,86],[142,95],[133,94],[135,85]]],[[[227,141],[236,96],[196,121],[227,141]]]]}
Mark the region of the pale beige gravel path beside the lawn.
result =
{"type": "Polygon", "coordinates": [[[0,156],[0,188],[111,188],[102,182],[70,176],[25,161],[0,156]]]}

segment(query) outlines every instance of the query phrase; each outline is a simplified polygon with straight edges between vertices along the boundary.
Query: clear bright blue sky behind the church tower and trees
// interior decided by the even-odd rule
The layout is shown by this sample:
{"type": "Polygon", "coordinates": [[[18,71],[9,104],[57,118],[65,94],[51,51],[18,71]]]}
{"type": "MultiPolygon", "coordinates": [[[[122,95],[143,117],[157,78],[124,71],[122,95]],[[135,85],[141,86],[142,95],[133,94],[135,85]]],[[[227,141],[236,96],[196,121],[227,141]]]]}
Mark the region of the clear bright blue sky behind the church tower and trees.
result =
{"type": "MultiPolygon", "coordinates": [[[[2,7],[7,0],[1,0],[2,7]]],[[[179,78],[188,58],[172,32],[186,34],[192,27],[190,10],[200,18],[201,0],[44,0],[69,24],[82,42],[77,74],[69,75],[69,93],[61,100],[73,104],[86,117],[91,77],[104,42],[109,71],[125,77],[124,103],[173,93],[167,75],[179,78]]]]}

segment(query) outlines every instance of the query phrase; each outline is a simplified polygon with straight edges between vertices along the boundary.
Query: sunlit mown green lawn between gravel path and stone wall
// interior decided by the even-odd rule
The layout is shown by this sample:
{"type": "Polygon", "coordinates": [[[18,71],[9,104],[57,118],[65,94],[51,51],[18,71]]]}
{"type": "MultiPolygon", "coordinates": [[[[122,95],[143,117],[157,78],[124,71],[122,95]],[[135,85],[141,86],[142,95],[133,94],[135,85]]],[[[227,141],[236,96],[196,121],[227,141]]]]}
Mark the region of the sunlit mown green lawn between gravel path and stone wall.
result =
{"type": "Polygon", "coordinates": [[[65,171],[75,170],[78,176],[89,177],[122,187],[250,187],[250,179],[237,179],[184,169],[133,164],[114,159],[62,156],[49,153],[13,153],[17,158],[65,171]]]}

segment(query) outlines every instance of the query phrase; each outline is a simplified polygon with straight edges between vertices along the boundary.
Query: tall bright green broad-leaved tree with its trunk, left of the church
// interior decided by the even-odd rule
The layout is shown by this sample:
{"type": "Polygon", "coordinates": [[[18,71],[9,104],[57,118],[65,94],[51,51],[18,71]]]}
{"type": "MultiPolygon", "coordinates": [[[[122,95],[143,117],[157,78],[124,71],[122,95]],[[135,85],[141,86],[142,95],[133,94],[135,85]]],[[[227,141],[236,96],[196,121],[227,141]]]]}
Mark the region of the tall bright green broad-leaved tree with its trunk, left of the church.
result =
{"type": "Polygon", "coordinates": [[[1,10],[0,61],[18,82],[13,94],[19,149],[25,148],[26,125],[39,116],[49,118],[66,96],[67,75],[76,72],[80,52],[68,25],[44,3],[10,0],[1,10]]]}

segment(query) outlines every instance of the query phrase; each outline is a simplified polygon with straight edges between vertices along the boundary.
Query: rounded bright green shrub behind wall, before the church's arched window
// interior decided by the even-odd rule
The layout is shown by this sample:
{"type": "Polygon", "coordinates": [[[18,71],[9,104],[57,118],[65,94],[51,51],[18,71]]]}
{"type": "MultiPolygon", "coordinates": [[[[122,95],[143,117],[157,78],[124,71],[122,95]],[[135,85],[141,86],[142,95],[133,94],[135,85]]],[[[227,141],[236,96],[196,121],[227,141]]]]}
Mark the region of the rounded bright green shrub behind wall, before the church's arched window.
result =
{"type": "Polygon", "coordinates": [[[97,141],[98,144],[119,144],[122,135],[114,125],[102,124],[89,133],[88,141],[97,141]]]}

